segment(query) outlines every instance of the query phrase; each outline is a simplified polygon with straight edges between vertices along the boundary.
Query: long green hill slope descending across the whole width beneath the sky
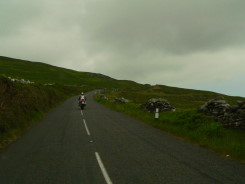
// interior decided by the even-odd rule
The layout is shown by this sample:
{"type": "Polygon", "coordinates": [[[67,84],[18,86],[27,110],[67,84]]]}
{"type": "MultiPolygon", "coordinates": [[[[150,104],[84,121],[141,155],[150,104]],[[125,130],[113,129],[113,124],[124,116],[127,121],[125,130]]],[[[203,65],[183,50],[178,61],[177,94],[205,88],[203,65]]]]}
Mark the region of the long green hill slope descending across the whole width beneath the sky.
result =
{"type": "Polygon", "coordinates": [[[87,86],[92,88],[118,88],[120,96],[136,103],[143,103],[152,97],[169,100],[177,108],[195,108],[205,101],[223,96],[231,103],[244,100],[219,93],[192,90],[164,85],[151,86],[129,80],[116,80],[108,76],[89,72],[78,72],[40,62],[31,62],[0,56],[0,75],[30,80],[39,84],[55,83],[59,85],[87,86]]]}

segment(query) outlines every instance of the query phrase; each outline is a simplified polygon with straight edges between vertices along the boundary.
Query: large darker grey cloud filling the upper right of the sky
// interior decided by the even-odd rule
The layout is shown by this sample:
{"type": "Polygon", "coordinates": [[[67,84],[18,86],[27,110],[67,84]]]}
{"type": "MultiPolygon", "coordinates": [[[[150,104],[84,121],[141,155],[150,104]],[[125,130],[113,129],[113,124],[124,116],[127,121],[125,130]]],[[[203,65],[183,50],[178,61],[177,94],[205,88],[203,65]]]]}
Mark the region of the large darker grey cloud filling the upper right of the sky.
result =
{"type": "Polygon", "coordinates": [[[239,46],[245,41],[245,1],[105,0],[93,3],[88,6],[87,32],[92,40],[119,50],[140,45],[143,50],[181,54],[239,46]]]}

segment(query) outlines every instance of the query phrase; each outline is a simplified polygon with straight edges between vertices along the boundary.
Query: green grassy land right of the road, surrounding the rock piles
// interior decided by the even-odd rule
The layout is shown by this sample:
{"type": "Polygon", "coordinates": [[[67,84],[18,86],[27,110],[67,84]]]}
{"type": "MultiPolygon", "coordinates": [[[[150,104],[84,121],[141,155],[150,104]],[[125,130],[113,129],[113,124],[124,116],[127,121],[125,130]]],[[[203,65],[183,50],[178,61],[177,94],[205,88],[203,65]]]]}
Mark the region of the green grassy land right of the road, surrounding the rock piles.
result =
{"type": "Polygon", "coordinates": [[[110,108],[182,137],[187,141],[212,149],[222,155],[229,155],[245,161],[245,132],[225,129],[213,117],[197,112],[199,106],[216,97],[222,96],[230,104],[235,104],[237,100],[244,101],[245,98],[167,86],[148,86],[144,90],[105,92],[105,95],[108,100],[99,98],[99,96],[96,99],[110,108]],[[118,97],[127,98],[131,102],[128,104],[113,103],[113,99],[118,97]],[[154,114],[140,109],[140,104],[153,97],[167,99],[177,110],[175,112],[162,112],[160,118],[155,120],[154,114]]]}

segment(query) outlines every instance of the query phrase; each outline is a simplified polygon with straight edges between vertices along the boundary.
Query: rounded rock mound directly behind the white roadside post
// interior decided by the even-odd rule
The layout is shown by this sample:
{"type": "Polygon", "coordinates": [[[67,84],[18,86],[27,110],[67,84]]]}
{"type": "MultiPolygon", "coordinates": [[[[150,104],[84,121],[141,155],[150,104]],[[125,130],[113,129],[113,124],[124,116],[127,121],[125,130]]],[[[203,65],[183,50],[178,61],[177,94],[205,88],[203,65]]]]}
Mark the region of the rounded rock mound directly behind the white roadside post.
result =
{"type": "Polygon", "coordinates": [[[159,112],[175,111],[175,107],[171,106],[167,100],[162,98],[151,98],[140,107],[149,112],[155,112],[156,108],[158,108],[159,112]]]}

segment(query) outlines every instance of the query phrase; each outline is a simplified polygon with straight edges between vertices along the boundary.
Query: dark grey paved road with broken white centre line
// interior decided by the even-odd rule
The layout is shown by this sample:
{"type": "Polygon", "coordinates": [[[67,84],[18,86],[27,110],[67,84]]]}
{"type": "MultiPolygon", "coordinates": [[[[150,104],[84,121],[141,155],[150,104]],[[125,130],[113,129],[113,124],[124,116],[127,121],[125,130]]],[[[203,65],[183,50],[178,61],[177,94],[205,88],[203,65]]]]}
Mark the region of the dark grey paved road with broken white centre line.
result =
{"type": "Polygon", "coordinates": [[[245,184],[245,164],[71,98],[0,153],[1,184],[245,184]]]}

